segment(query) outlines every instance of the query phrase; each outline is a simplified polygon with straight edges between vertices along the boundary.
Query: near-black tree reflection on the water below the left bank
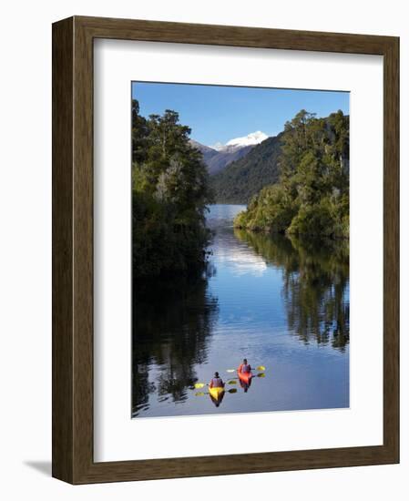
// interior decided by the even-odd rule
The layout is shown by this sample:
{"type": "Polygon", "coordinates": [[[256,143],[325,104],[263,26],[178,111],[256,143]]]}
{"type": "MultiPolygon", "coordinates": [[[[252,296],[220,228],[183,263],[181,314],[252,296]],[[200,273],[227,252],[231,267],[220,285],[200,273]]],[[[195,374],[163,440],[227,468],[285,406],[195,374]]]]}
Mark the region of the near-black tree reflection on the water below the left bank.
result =
{"type": "Polygon", "coordinates": [[[205,363],[218,301],[208,291],[210,267],[199,276],[133,286],[132,416],[147,410],[149,395],[182,403],[205,363]]]}

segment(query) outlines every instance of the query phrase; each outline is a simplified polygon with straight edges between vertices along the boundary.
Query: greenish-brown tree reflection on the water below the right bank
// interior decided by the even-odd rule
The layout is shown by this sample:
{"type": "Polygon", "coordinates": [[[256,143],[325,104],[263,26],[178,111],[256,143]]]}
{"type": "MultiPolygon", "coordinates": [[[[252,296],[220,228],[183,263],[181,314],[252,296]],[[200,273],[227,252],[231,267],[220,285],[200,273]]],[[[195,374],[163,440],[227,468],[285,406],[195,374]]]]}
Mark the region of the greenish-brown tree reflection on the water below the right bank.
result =
{"type": "Polygon", "coordinates": [[[234,230],[265,261],[282,271],[282,296],[290,332],[303,343],[349,342],[349,245],[234,230]]]}

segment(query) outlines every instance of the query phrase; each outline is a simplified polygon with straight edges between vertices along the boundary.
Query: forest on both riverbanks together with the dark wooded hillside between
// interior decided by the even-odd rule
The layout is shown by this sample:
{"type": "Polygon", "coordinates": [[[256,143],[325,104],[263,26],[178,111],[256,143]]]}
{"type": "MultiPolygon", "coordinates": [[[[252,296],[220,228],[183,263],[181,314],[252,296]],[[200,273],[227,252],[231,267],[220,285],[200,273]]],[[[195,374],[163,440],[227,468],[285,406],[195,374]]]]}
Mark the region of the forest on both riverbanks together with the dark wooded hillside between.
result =
{"type": "MultiPolygon", "coordinates": [[[[177,112],[167,109],[144,118],[138,100],[132,101],[134,278],[188,275],[207,262],[205,216],[215,182],[212,188],[190,132],[177,112]]],[[[279,136],[266,139],[212,179],[220,176],[229,181],[220,185],[230,187],[228,198],[237,190],[238,198],[250,199],[234,220],[236,228],[346,238],[349,117],[338,111],[316,118],[302,110],[279,136]]],[[[216,183],[217,199],[220,186],[218,191],[216,183]]]]}

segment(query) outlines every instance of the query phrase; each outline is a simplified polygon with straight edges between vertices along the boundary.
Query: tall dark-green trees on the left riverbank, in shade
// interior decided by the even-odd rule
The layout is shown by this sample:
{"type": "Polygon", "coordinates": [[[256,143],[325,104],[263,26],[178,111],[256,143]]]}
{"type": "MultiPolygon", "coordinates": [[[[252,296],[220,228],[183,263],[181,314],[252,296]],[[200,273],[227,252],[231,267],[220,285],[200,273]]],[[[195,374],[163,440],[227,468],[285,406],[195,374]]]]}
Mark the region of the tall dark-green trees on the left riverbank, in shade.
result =
{"type": "Polygon", "coordinates": [[[148,119],[132,103],[133,276],[185,273],[206,261],[207,169],[178,113],[148,119]]]}

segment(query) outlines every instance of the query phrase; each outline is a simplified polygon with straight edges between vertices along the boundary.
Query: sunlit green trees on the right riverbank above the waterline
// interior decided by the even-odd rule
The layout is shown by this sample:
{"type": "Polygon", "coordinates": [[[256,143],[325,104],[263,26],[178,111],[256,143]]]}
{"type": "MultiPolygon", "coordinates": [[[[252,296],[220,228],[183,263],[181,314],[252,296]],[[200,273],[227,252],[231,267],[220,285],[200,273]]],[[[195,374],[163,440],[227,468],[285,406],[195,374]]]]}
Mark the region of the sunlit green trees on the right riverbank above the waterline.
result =
{"type": "Polygon", "coordinates": [[[281,136],[279,182],[261,189],[238,215],[237,228],[347,238],[349,118],[305,110],[281,136]]]}

